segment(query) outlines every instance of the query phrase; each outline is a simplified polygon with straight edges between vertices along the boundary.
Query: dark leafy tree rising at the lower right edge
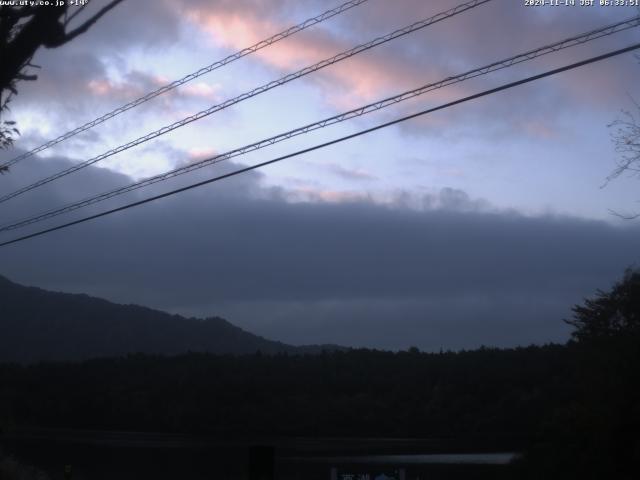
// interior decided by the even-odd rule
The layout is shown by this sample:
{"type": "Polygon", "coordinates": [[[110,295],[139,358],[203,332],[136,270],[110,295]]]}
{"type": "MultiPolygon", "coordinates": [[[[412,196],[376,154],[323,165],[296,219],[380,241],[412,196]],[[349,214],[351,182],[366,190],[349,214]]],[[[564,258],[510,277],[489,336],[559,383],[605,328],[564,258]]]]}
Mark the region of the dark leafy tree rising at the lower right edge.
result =
{"type": "Polygon", "coordinates": [[[570,397],[528,452],[531,477],[632,480],[640,471],[640,272],[573,308],[570,397]]]}

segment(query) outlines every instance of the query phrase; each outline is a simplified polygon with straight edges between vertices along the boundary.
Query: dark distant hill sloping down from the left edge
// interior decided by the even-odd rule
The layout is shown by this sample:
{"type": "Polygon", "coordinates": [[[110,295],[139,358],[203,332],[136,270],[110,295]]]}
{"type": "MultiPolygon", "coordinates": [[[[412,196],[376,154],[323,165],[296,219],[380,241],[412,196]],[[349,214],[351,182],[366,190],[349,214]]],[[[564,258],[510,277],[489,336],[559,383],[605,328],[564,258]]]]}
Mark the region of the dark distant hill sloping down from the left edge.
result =
{"type": "Polygon", "coordinates": [[[25,287],[0,276],[0,362],[84,360],[129,353],[317,353],[253,335],[218,317],[185,318],[88,295],[25,287]]]}

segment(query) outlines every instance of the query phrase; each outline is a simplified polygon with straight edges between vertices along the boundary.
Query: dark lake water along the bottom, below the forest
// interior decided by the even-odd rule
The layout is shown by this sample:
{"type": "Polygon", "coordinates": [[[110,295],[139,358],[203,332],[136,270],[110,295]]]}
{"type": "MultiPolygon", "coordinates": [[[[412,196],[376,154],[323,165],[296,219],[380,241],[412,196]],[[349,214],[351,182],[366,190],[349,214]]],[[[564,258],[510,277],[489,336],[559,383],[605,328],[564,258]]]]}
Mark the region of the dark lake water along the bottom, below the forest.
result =
{"type": "Polygon", "coordinates": [[[73,480],[246,480],[250,445],[274,447],[278,480],[508,478],[506,465],[514,453],[443,451],[453,443],[451,439],[248,440],[42,429],[2,437],[5,453],[44,470],[51,480],[62,479],[67,464],[73,467],[73,480]]]}

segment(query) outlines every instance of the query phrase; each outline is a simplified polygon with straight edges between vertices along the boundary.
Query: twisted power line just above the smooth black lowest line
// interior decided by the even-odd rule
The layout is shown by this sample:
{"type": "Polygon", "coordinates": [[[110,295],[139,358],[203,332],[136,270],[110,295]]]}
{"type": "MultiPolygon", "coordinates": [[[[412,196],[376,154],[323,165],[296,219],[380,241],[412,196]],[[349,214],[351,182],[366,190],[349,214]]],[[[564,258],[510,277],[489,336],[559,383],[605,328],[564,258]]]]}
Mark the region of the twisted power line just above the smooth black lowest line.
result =
{"type": "Polygon", "coordinates": [[[640,16],[636,16],[636,17],[632,17],[629,18],[627,20],[623,20],[621,22],[617,22],[611,25],[607,25],[605,27],[601,27],[598,28],[596,30],[591,30],[589,32],[586,33],[582,33],[580,35],[576,35],[564,40],[561,40],[559,42],[556,43],[552,43],[550,45],[546,45],[540,48],[537,48],[535,50],[529,50],[527,52],[518,54],[518,55],[514,55],[512,57],[509,57],[507,59],[504,60],[500,60],[498,62],[494,62],[488,65],[485,65],[483,67],[479,67],[479,68],[475,68],[473,70],[469,70],[465,73],[462,73],[460,75],[455,75],[455,76],[450,76],[447,77],[443,80],[440,80],[438,82],[434,82],[434,83],[429,83],[427,85],[421,86],[419,88],[416,88],[414,90],[409,90],[406,92],[403,92],[401,94],[398,95],[394,95],[392,97],[388,97],[385,98],[383,100],[379,100],[377,102],[374,103],[370,103],[368,105],[365,105],[363,107],[359,107],[344,113],[341,113],[339,115],[334,115],[332,117],[329,118],[325,118],[323,120],[320,120],[318,122],[315,123],[311,123],[308,125],[305,125],[303,127],[299,127],[296,128],[294,130],[290,130],[288,132],[285,133],[281,133],[278,135],[275,135],[273,137],[267,138],[267,139],[263,139],[260,140],[258,142],[249,144],[249,145],[245,145],[243,147],[240,148],[236,148],[234,150],[230,150],[228,152],[219,154],[219,155],[215,155],[213,157],[210,158],[206,158],[203,160],[200,160],[198,162],[194,162],[191,163],[189,165],[185,165],[183,167],[179,167],[176,168],[174,170],[170,170],[168,172],[159,174],[159,175],[155,175],[153,177],[144,179],[144,180],[140,180],[138,182],[126,185],[124,187],[119,187],[116,188],[114,190],[110,190],[108,192],[99,194],[99,195],[95,195],[93,197],[89,197],[89,198],[85,198],[84,200],[80,200],[77,202],[73,202],[70,204],[67,204],[65,206],[62,207],[58,207],[56,209],[52,209],[52,210],[48,210],[46,212],[34,215],[32,217],[29,217],[27,219],[24,220],[20,220],[20,221],[15,221],[13,223],[10,224],[5,224],[0,226],[0,232],[3,231],[9,231],[9,230],[15,230],[17,228],[21,228],[27,225],[31,225],[34,223],[38,223],[41,222],[43,220],[47,220],[53,217],[56,217],[58,215],[62,215],[64,213],[68,213],[74,210],[77,210],[79,208],[83,208],[89,205],[93,205],[95,203],[99,203],[102,201],[105,201],[109,198],[113,198],[116,197],[118,195],[123,195],[125,193],[137,190],[139,188],[143,188],[149,185],[153,185],[155,183],[158,182],[162,182],[165,180],[168,180],[170,178],[173,177],[177,177],[179,175],[183,175],[185,173],[189,173],[192,172],[194,170],[200,169],[200,168],[204,168],[206,166],[210,166],[216,163],[220,163],[222,161],[228,160],[230,158],[234,158],[240,155],[244,155],[248,152],[252,152],[255,150],[259,150],[261,148],[270,146],[270,145],[274,145],[276,143],[282,142],[284,140],[288,140],[290,138],[293,138],[297,135],[302,135],[314,130],[318,130],[320,128],[324,128],[327,127],[329,125],[334,125],[336,123],[340,123],[352,118],[356,118],[362,115],[365,115],[367,113],[371,113],[383,108],[386,108],[388,106],[394,105],[396,103],[408,100],[410,98],[414,98],[417,97],[419,95],[423,95],[425,93],[428,93],[430,91],[439,89],[439,88],[443,88],[449,85],[452,85],[454,83],[459,83],[465,80],[468,80],[470,78],[475,78],[478,77],[480,75],[486,75],[488,73],[497,71],[497,70],[501,70],[507,67],[510,67],[512,65],[515,64],[519,64],[522,62],[526,62],[526,61],[530,61],[533,60],[535,58],[538,58],[542,55],[547,55],[549,53],[553,53],[553,52],[557,52],[559,50],[565,49],[565,48],[569,48],[569,47],[573,47],[575,45],[580,45],[580,44],[584,44],[586,42],[589,41],[593,41],[596,40],[598,38],[607,36],[607,35],[612,35],[614,33],[618,33],[620,31],[623,30],[627,30],[629,28],[633,28],[633,27],[637,27],[638,25],[640,25],[640,16]]]}

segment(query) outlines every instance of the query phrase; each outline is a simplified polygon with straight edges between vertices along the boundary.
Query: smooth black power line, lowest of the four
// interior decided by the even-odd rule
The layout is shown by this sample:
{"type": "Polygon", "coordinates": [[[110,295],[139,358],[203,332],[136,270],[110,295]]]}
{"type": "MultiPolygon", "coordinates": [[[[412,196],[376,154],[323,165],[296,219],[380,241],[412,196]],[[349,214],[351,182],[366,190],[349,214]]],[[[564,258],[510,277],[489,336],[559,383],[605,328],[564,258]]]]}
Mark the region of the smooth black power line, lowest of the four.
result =
{"type": "Polygon", "coordinates": [[[217,177],[213,177],[213,178],[210,178],[208,180],[204,180],[204,181],[201,181],[201,182],[198,182],[198,183],[194,183],[194,184],[188,185],[186,187],[182,187],[182,188],[178,188],[178,189],[175,189],[175,190],[171,190],[169,192],[165,192],[165,193],[162,193],[160,195],[155,195],[153,197],[146,198],[144,200],[140,200],[140,201],[137,201],[137,202],[129,203],[127,205],[123,205],[123,206],[118,207],[118,208],[113,208],[113,209],[107,210],[105,212],[97,213],[95,215],[90,215],[90,216],[87,216],[87,217],[84,217],[84,218],[81,218],[81,219],[78,219],[78,220],[74,220],[72,222],[68,222],[68,223],[65,223],[65,224],[62,224],[62,225],[58,225],[56,227],[51,227],[51,228],[47,228],[45,230],[40,230],[38,232],[34,232],[34,233],[29,234],[29,235],[24,235],[22,237],[15,238],[13,240],[9,240],[9,241],[0,243],[0,247],[4,247],[4,246],[7,246],[7,245],[18,243],[18,242],[21,242],[21,241],[24,241],[24,240],[27,240],[27,239],[30,239],[30,238],[39,237],[39,236],[45,235],[47,233],[55,232],[57,230],[62,230],[64,228],[68,228],[68,227],[71,227],[73,225],[78,225],[80,223],[88,222],[89,220],[94,220],[94,219],[97,219],[97,218],[100,218],[100,217],[104,217],[104,216],[110,215],[112,213],[128,210],[128,209],[133,208],[133,207],[144,205],[145,203],[150,203],[150,202],[153,202],[155,200],[159,200],[159,199],[162,199],[162,198],[165,198],[165,197],[169,197],[169,196],[172,196],[172,195],[176,195],[178,193],[185,192],[187,190],[192,190],[194,188],[198,188],[198,187],[201,187],[201,186],[204,186],[204,185],[208,185],[210,183],[214,183],[214,182],[223,180],[225,178],[233,177],[233,176],[239,175],[241,173],[246,173],[246,172],[249,172],[251,170],[256,170],[258,168],[261,168],[261,167],[264,167],[264,166],[267,166],[267,165],[271,165],[273,163],[280,162],[282,160],[286,160],[288,158],[292,158],[292,157],[296,157],[296,156],[299,156],[299,155],[303,155],[305,153],[309,153],[309,152],[312,152],[314,150],[319,150],[321,148],[325,148],[325,147],[328,147],[330,145],[335,145],[337,143],[341,143],[341,142],[344,142],[346,140],[351,140],[353,138],[356,138],[356,137],[359,137],[359,136],[374,132],[376,130],[380,130],[382,128],[387,128],[387,127],[390,127],[390,126],[395,125],[397,123],[405,122],[407,120],[410,120],[410,119],[413,119],[413,118],[416,118],[416,117],[420,117],[422,115],[427,115],[429,113],[433,113],[433,112],[436,112],[438,110],[444,110],[446,108],[450,108],[450,107],[453,107],[455,105],[459,105],[459,104],[464,103],[464,102],[468,102],[468,101],[475,100],[475,99],[478,99],[478,98],[481,98],[481,97],[485,97],[487,95],[492,95],[494,93],[497,93],[497,92],[500,92],[500,91],[503,91],[503,90],[508,90],[510,88],[514,88],[514,87],[517,87],[519,85],[524,85],[526,83],[534,82],[536,80],[540,80],[542,78],[549,77],[551,75],[556,75],[556,74],[561,73],[561,72],[566,72],[567,70],[572,70],[574,68],[578,68],[578,67],[581,67],[581,66],[584,66],[584,65],[588,65],[588,64],[591,64],[591,63],[599,62],[599,61],[605,60],[607,58],[611,58],[611,57],[614,57],[614,56],[617,56],[617,55],[622,55],[623,53],[631,52],[633,50],[637,50],[638,48],[640,48],[640,43],[636,43],[634,45],[630,45],[628,47],[621,48],[619,50],[614,50],[614,51],[611,51],[611,52],[603,54],[603,55],[598,55],[596,57],[591,57],[591,58],[589,58],[587,60],[583,60],[583,61],[580,61],[580,62],[572,63],[572,64],[566,65],[564,67],[556,68],[556,69],[553,69],[553,70],[548,70],[548,71],[546,71],[544,73],[540,73],[538,75],[533,75],[533,76],[530,76],[530,77],[526,77],[524,79],[521,79],[521,80],[518,80],[518,81],[515,81],[515,82],[506,83],[506,84],[503,84],[503,85],[501,85],[499,87],[495,87],[495,88],[492,88],[492,89],[489,89],[489,90],[484,90],[483,92],[476,93],[474,95],[469,95],[467,97],[464,97],[464,98],[461,98],[461,99],[458,99],[458,100],[454,100],[452,102],[448,102],[448,103],[445,103],[445,104],[437,106],[437,107],[429,108],[427,110],[422,110],[422,111],[420,111],[418,113],[414,113],[414,114],[411,114],[411,115],[400,117],[400,118],[397,118],[397,119],[392,120],[390,122],[382,123],[382,124],[376,125],[375,127],[367,128],[365,130],[360,130],[359,132],[352,133],[350,135],[346,135],[344,137],[340,137],[340,138],[337,138],[337,139],[334,139],[334,140],[330,140],[328,142],[324,142],[324,143],[321,143],[321,144],[318,144],[318,145],[314,145],[313,147],[305,148],[303,150],[298,150],[296,152],[289,153],[287,155],[283,155],[281,157],[277,157],[277,158],[274,158],[272,160],[268,160],[268,161],[265,161],[265,162],[262,162],[262,163],[258,163],[256,165],[252,165],[250,167],[241,168],[241,169],[235,170],[233,172],[230,172],[230,173],[227,173],[227,174],[224,174],[224,175],[219,175],[217,177]]]}

